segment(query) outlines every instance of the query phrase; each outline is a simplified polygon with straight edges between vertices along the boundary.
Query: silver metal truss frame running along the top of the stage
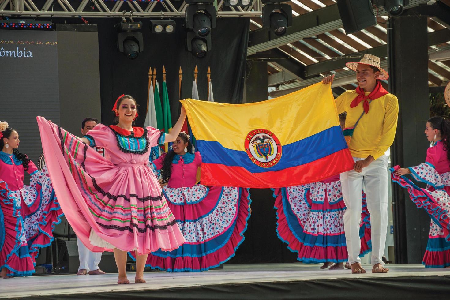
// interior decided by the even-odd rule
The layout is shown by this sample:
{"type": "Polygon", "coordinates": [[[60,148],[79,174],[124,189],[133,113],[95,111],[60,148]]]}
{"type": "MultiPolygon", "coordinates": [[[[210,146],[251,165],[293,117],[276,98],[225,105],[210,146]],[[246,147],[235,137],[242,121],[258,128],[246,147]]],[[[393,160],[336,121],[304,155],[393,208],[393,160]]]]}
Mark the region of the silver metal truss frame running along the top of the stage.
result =
{"type": "MultiPolygon", "coordinates": [[[[0,0],[0,15],[20,18],[184,18],[187,4],[183,0],[0,0]]],[[[261,0],[247,7],[228,7],[218,0],[217,17],[252,18],[261,15],[261,0]]]]}

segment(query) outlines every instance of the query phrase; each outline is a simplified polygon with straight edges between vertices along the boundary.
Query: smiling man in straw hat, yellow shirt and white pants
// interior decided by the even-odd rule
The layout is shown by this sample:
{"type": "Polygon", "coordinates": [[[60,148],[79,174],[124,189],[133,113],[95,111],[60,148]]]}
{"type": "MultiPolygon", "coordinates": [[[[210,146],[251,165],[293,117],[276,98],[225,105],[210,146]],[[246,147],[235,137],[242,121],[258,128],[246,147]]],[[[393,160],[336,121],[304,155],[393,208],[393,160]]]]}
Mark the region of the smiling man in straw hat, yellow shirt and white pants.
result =
{"type": "MultiPolygon", "coordinates": [[[[346,135],[355,161],[354,170],[341,174],[342,194],[347,206],[344,230],[352,273],[365,273],[358,257],[361,192],[367,195],[372,228],[372,273],[387,273],[382,260],[387,233],[387,165],[384,154],[391,147],[397,127],[398,100],[389,94],[379,80],[389,75],[380,67],[380,58],[365,54],[359,62],[347,63],[356,71],[358,87],[336,99],[338,113],[347,112],[346,135]],[[359,216],[359,217],[358,217],[359,216]]],[[[333,82],[333,76],[323,79],[333,82]]]]}

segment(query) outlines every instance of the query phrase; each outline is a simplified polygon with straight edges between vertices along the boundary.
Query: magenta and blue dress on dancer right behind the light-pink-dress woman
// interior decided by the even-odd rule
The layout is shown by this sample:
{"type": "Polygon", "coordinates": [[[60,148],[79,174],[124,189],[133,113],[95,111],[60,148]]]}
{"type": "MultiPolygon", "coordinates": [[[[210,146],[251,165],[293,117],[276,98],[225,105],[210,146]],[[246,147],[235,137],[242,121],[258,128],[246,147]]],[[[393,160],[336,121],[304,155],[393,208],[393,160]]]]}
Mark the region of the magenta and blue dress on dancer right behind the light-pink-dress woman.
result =
{"type": "MultiPolygon", "coordinates": [[[[156,172],[166,154],[153,161],[156,172]]],[[[250,217],[248,188],[196,184],[200,152],[175,155],[171,178],[162,188],[184,239],[174,251],[153,251],[146,266],[167,272],[199,272],[226,262],[244,240],[250,217]]]]}

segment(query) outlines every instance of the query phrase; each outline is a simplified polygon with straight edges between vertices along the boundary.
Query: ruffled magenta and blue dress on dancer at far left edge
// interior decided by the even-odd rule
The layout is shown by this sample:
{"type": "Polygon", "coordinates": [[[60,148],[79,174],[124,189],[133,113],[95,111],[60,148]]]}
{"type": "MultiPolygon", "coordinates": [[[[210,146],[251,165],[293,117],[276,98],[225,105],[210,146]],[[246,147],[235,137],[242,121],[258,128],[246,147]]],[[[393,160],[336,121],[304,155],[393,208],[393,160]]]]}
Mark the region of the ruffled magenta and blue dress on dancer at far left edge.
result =
{"type": "Polygon", "coordinates": [[[14,154],[0,151],[0,269],[8,276],[35,273],[39,248],[54,240],[63,215],[46,168],[28,163],[30,185],[23,184],[24,171],[14,154]]]}

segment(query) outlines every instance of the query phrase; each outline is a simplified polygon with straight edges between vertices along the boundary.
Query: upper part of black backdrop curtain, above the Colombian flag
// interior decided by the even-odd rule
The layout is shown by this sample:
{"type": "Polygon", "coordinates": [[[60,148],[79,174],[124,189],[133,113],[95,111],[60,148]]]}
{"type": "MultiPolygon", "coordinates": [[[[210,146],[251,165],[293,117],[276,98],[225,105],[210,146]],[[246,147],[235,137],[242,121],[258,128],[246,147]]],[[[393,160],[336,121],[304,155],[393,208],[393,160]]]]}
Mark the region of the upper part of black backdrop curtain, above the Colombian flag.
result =
{"type": "MultiPolygon", "coordinates": [[[[138,19],[136,19],[138,20],[138,19]]],[[[211,67],[211,81],[216,102],[242,103],[249,33],[249,18],[222,18],[212,29],[212,50],[205,58],[196,58],[185,49],[184,19],[177,18],[172,34],[152,34],[148,19],[143,22],[144,52],[135,60],[117,51],[118,19],[98,19],[100,54],[100,90],[102,122],[111,123],[112,105],[121,94],[130,94],[137,100],[141,117],[137,125],[144,124],[147,105],[148,69],[156,67],[157,81],[162,83],[162,66],[166,69],[166,84],[171,104],[172,124],[178,119],[179,69],[183,72],[181,99],[192,97],[194,68],[198,67],[198,93],[207,99],[207,69],[211,67]]],[[[92,22],[90,22],[92,23],[92,22]]],[[[161,84],[160,84],[161,89],[161,84]]],[[[160,91],[161,94],[161,91],[160,91]]]]}

